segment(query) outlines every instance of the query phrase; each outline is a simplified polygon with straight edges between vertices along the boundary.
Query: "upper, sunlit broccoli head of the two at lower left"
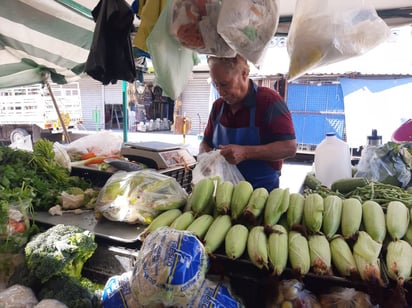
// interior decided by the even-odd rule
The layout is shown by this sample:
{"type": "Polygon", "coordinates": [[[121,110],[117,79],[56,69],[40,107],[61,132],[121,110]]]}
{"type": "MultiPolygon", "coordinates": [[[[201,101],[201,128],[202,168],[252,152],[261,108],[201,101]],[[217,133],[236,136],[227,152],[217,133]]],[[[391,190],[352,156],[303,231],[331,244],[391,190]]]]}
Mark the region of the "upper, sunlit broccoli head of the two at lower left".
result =
{"type": "Polygon", "coordinates": [[[92,232],[77,226],[59,224],[36,234],[27,243],[26,263],[42,283],[62,274],[80,278],[84,263],[96,248],[92,232]]]}

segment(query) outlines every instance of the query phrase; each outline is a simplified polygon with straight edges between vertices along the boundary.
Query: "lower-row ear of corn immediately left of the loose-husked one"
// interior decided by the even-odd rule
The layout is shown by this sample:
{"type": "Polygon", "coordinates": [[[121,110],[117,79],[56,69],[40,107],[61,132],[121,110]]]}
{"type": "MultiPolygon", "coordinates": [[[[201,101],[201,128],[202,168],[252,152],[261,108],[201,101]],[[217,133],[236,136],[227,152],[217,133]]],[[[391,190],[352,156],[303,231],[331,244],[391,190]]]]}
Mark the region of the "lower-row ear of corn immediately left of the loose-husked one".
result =
{"type": "Polygon", "coordinates": [[[330,241],[332,263],[344,277],[351,277],[358,273],[355,258],[348,243],[342,236],[335,236],[330,241]]]}

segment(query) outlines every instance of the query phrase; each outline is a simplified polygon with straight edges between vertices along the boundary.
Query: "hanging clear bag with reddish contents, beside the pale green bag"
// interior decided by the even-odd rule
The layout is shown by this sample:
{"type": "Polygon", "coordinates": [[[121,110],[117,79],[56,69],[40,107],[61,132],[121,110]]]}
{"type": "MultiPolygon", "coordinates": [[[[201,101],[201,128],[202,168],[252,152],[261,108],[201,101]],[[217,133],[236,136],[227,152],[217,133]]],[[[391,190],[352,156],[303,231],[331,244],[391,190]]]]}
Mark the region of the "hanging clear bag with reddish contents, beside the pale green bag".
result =
{"type": "Polygon", "coordinates": [[[235,51],[217,33],[218,0],[173,0],[170,33],[182,46],[201,54],[234,57],[235,51]]]}

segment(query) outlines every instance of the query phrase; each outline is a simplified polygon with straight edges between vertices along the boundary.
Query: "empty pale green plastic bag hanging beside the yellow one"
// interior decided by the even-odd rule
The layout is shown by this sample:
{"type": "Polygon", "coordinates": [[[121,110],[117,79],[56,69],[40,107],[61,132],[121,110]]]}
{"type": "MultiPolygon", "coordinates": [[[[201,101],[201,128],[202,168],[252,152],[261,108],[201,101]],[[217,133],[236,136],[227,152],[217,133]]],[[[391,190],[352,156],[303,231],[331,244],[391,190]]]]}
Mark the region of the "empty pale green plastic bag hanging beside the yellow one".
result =
{"type": "Polygon", "coordinates": [[[171,3],[168,0],[146,40],[155,72],[155,84],[164,95],[175,100],[183,92],[199,58],[192,50],[182,47],[170,34],[171,3]]]}

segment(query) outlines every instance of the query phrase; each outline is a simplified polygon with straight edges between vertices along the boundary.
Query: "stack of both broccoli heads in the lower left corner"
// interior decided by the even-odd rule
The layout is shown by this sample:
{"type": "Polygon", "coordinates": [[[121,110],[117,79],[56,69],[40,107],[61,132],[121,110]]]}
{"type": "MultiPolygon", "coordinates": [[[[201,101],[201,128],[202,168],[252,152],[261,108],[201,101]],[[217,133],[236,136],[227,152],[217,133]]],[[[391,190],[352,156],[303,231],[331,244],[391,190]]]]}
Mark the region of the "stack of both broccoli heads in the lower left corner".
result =
{"type": "Polygon", "coordinates": [[[100,307],[104,286],[82,276],[84,264],[97,249],[94,234],[59,224],[37,233],[27,243],[25,263],[9,284],[30,287],[36,296],[57,299],[68,307],[100,307]]]}

